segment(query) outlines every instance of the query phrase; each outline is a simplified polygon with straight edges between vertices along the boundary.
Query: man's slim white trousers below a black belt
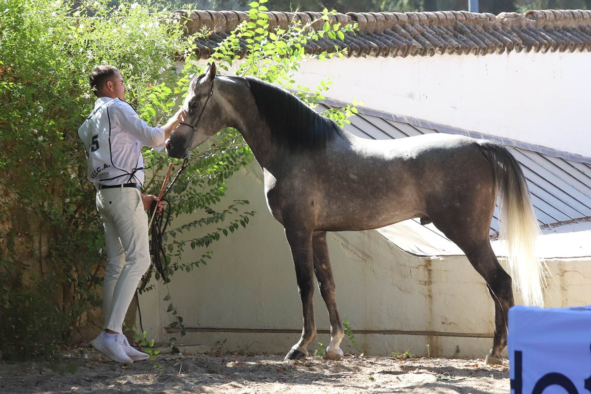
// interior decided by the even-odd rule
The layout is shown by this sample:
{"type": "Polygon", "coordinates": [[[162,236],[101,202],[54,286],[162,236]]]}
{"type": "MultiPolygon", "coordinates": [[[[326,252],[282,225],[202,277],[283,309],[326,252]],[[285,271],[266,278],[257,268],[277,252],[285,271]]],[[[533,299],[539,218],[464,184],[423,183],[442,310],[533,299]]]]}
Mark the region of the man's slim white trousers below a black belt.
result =
{"type": "Polygon", "coordinates": [[[150,268],[148,216],[135,187],[99,190],[96,193],[96,209],[105,226],[105,329],[122,333],[125,313],[134,298],[135,289],[150,268]]]}

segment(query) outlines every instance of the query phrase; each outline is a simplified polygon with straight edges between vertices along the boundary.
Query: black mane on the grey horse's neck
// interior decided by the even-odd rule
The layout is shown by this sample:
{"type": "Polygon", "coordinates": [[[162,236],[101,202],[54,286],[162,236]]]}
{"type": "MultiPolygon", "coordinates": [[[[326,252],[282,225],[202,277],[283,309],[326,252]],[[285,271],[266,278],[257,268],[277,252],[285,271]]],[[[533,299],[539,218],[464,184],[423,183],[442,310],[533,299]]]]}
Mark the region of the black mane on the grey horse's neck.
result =
{"type": "Polygon", "coordinates": [[[259,116],[271,129],[275,142],[290,151],[326,148],[341,133],[337,124],[325,118],[296,96],[259,79],[246,77],[259,116]]]}

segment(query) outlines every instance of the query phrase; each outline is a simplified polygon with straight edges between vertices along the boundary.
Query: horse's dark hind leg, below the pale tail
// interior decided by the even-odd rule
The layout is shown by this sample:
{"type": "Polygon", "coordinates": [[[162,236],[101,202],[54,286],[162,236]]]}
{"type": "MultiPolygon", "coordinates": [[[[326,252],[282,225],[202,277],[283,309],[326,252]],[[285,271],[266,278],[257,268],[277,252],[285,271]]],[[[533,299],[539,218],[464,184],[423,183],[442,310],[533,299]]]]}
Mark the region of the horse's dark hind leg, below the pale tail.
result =
{"type": "Polygon", "coordinates": [[[486,281],[486,287],[495,302],[495,336],[493,338],[492,349],[486,356],[486,363],[499,364],[503,360],[501,351],[507,344],[509,308],[514,305],[511,276],[505,272],[499,264],[498,259],[496,259],[495,253],[492,251],[491,242],[488,239],[488,224],[478,226],[480,227],[478,229],[466,228],[461,224],[474,222],[486,223],[486,220],[476,220],[473,218],[467,220],[465,214],[466,211],[447,211],[445,217],[437,218],[431,216],[431,219],[438,229],[466,253],[466,257],[472,266],[486,281]]]}

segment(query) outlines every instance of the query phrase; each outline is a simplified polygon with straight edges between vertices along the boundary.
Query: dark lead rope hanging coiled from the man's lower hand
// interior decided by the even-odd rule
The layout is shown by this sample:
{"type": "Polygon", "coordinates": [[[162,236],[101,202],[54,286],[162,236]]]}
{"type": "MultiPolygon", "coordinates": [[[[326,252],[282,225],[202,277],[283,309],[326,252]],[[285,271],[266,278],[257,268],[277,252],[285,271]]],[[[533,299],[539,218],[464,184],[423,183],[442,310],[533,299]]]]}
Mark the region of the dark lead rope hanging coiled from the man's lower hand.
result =
{"type": "MultiPolygon", "coordinates": [[[[152,254],[152,263],[154,264],[156,271],[160,273],[164,283],[170,282],[170,278],[167,275],[168,269],[168,260],[166,258],[166,252],[164,250],[163,245],[163,235],[166,232],[166,228],[168,227],[168,223],[170,223],[170,209],[171,204],[170,201],[166,198],[168,192],[172,189],[174,183],[183,173],[185,168],[189,165],[189,152],[187,152],[187,156],[184,158],[183,164],[181,165],[180,170],[177,171],[176,175],[174,175],[173,180],[170,182],[170,185],[164,191],[160,201],[164,201],[166,203],[166,209],[164,210],[163,214],[160,216],[156,216],[152,221],[151,225],[151,232],[152,232],[152,239],[150,245],[150,253],[152,254]]],[[[152,210],[155,209],[155,204],[158,204],[158,201],[154,201],[152,206],[152,210]]]]}

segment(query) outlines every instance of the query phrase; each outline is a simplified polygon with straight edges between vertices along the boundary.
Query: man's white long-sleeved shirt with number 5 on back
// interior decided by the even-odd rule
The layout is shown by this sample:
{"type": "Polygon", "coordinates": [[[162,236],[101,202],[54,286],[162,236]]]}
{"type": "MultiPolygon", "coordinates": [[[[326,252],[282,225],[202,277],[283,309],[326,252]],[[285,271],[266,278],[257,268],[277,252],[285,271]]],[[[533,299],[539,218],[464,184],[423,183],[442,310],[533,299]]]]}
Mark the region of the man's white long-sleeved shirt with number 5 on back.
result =
{"type": "Polygon", "coordinates": [[[78,135],[88,158],[88,180],[103,185],[144,183],[142,145],[164,148],[164,129],[139,119],[129,103],[99,97],[78,135]]]}

